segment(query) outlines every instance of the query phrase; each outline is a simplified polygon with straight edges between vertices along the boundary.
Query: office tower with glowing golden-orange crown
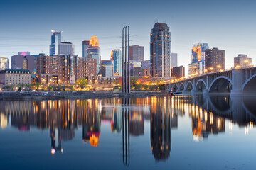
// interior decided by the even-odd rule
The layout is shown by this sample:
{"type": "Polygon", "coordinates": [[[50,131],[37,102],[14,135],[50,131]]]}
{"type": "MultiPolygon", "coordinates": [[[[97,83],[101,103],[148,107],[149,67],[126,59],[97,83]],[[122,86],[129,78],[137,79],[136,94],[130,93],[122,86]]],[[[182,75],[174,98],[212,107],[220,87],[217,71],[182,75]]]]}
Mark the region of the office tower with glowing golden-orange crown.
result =
{"type": "Polygon", "coordinates": [[[90,38],[89,47],[87,49],[88,58],[97,59],[97,73],[100,72],[100,47],[99,47],[99,40],[97,36],[93,36],[90,38]]]}

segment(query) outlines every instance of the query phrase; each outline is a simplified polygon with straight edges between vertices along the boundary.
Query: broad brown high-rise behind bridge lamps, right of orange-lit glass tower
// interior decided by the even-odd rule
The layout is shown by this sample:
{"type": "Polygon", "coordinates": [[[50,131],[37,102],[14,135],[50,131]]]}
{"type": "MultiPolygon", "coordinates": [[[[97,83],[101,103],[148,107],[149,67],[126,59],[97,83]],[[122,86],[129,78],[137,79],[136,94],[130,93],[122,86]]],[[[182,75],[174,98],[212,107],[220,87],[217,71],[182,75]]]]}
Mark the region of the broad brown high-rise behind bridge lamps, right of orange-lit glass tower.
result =
{"type": "Polygon", "coordinates": [[[225,69],[225,50],[214,47],[206,49],[205,72],[220,72],[225,69]]]}

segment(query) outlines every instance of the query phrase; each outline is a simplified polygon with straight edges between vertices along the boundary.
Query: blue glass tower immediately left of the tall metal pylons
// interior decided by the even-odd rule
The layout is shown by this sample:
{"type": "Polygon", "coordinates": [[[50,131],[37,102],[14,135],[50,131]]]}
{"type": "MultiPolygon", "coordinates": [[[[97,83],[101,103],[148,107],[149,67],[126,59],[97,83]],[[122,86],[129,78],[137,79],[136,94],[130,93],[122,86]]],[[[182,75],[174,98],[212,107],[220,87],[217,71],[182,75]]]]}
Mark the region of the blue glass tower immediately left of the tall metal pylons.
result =
{"type": "Polygon", "coordinates": [[[114,73],[119,73],[122,76],[122,55],[121,50],[115,49],[111,51],[111,60],[114,60],[114,73]]]}

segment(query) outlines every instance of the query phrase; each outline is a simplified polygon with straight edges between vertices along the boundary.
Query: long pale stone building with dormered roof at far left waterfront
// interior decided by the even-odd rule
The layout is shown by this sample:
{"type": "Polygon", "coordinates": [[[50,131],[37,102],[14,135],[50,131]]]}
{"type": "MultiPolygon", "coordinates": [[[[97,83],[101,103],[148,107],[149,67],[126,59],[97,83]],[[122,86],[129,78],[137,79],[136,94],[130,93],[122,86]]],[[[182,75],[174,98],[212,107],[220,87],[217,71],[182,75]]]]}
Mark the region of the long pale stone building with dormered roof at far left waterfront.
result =
{"type": "Polygon", "coordinates": [[[4,86],[31,84],[31,72],[28,69],[1,70],[0,84],[3,84],[4,86]]]}

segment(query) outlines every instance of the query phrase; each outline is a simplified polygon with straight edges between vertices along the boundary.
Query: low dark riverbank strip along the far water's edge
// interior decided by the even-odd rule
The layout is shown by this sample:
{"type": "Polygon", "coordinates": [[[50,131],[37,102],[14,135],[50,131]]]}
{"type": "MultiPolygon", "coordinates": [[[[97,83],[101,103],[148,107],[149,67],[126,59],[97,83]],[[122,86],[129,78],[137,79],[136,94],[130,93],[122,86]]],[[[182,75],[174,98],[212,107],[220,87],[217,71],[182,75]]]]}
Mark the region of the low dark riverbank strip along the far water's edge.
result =
{"type": "Polygon", "coordinates": [[[132,91],[123,94],[121,91],[6,91],[0,93],[0,101],[17,100],[55,100],[87,99],[113,97],[170,96],[168,91],[132,91]]]}

